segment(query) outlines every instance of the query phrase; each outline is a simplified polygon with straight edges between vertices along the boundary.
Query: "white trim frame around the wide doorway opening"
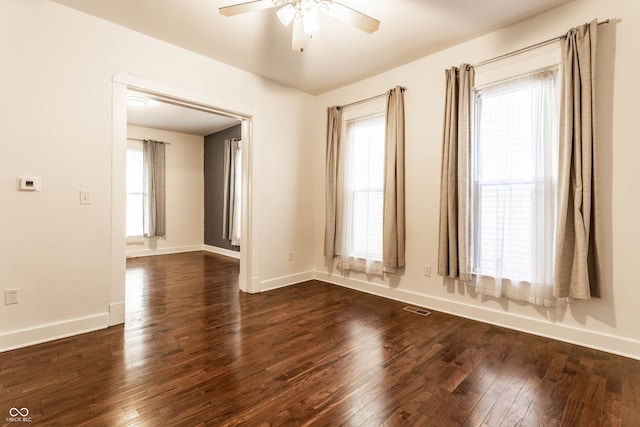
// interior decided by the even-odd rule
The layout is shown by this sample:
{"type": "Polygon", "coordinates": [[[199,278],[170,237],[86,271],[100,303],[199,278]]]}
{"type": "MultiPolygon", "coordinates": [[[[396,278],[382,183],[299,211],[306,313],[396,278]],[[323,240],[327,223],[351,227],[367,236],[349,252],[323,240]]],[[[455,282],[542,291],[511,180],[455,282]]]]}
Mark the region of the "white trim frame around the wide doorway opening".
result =
{"type": "Polygon", "coordinates": [[[239,288],[257,292],[256,248],[252,227],[252,147],[254,113],[251,108],[238,106],[198,92],[170,86],[146,78],[119,73],[113,79],[113,135],[112,135],[112,242],[109,325],[124,323],[125,318],[125,247],[126,247],[126,150],[127,150],[127,93],[144,93],[158,101],[202,112],[223,115],[241,123],[242,156],[242,217],[239,288]]]}

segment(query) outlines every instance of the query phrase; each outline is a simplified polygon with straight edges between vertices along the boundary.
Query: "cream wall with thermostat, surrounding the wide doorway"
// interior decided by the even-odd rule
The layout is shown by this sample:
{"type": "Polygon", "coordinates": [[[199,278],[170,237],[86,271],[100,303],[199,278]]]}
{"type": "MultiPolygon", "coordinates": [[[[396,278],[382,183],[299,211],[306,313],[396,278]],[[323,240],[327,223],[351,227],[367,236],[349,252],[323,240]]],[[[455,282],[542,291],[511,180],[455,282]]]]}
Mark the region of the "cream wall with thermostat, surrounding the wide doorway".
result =
{"type": "Polygon", "coordinates": [[[46,0],[0,2],[0,55],[0,290],[21,298],[0,304],[0,351],[106,327],[122,302],[110,289],[122,262],[111,253],[117,73],[251,107],[253,227],[269,242],[252,279],[311,269],[313,227],[299,218],[313,215],[302,187],[312,177],[298,179],[311,167],[310,95],[46,0]],[[42,192],[17,192],[23,174],[42,177],[42,192]],[[92,205],[79,204],[80,189],[92,205]]]}

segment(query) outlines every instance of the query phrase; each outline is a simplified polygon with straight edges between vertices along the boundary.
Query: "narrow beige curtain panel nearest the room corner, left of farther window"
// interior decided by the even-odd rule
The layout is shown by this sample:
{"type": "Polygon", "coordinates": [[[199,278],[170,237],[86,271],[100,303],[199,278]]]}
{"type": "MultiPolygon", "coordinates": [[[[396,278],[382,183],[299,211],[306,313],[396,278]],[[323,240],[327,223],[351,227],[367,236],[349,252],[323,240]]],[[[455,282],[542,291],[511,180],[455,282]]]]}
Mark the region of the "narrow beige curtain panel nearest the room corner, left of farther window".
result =
{"type": "Polygon", "coordinates": [[[324,256],[333,258],[336,253],[336,217],[338,209],[338,153],[342,131],[342,109],[327,108],[327,146],[325,165],[325,226],[324,256]]]}

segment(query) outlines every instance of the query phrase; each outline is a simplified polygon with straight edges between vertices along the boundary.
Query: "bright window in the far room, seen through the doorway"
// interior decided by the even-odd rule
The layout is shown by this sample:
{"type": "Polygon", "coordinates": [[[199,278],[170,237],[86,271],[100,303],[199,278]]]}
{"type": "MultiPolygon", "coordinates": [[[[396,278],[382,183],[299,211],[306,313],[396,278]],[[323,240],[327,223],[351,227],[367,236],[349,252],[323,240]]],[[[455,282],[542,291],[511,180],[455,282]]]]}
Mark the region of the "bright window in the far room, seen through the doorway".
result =
{"type": "Polygon", "coordinates": [[[141,141],[127,145],[127,237],[141,237],[143,228],[143,154],[141,141]]]}

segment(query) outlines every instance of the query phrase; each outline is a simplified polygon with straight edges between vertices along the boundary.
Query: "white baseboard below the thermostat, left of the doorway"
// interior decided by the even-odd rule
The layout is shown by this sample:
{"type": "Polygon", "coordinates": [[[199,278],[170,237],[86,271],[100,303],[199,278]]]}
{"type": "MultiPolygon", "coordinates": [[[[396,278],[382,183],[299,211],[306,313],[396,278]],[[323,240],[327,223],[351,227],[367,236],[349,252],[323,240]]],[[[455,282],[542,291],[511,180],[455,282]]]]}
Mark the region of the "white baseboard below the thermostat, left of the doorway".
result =
{"type": "Polygon", "coordinates": [[[7,332],[0,334],[0,353],[107,327],[109,327],[109,313],[100,313],[7,332]]]}

